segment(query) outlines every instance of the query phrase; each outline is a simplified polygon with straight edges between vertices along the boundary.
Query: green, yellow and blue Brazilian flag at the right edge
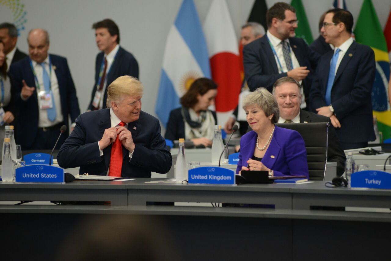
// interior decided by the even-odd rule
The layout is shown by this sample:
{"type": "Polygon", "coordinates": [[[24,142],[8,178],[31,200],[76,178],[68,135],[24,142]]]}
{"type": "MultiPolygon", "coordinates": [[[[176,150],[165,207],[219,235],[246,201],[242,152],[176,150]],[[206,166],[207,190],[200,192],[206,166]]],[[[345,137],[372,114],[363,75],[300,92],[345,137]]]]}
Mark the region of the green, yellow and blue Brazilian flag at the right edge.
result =
{"type": "Polygon", "coordinates": [[[391,137],[391,112],[387,99],[390,67],[386,38],[371,0],[364,0],[362,3],[354,35],[358,43],[370,46],[375,52],[376,75],[372,87],[372,109],[373,115],[377,116],[378,129],[386,140],[391,137]]]}

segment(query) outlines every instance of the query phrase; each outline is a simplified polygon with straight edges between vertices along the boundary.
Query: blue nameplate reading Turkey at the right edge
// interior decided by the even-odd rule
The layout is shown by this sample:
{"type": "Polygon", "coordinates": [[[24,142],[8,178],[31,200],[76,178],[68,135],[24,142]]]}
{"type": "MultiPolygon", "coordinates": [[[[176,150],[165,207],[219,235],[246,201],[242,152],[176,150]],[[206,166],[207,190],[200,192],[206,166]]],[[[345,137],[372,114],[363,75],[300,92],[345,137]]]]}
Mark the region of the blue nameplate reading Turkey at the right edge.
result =
{"type": "Polygon", "coordinates": [[[371,189],[391,189],[391,173],[366,170],[352,173],[351,187],[367,187],[371,189]]]}

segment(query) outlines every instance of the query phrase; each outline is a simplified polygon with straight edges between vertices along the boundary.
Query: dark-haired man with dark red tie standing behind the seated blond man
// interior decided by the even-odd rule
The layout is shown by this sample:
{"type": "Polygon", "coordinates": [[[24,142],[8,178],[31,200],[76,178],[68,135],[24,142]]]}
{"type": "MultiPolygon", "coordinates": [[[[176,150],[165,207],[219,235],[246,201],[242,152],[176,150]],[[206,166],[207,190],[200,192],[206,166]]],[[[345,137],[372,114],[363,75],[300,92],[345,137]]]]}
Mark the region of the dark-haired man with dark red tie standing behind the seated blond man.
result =
{"type": "Polygon", "coordinates": [[[120,76],[138,78],[138,63],[135,57],[120,47],[120,31],[113,20],[94,23],[95,41],[101,51],[95,61],[95,83],[92,87],[88,110],[106,108],[107,86],[120,76]]]}

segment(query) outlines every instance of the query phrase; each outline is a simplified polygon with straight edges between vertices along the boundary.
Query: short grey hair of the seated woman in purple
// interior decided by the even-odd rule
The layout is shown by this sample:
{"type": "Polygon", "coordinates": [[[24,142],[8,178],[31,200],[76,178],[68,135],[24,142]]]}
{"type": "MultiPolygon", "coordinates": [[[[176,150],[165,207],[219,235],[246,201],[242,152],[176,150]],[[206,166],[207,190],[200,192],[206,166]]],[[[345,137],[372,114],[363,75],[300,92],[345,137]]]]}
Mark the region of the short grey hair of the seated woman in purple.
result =
{"type": "Polygon", "coordinates": [[[255,105],[261,108],[264,111],[266,117],[269,117],[273,114],[271,123],[274,124],[278,122],[278,119],[280,118],[280,109],[278,108],[278,103],[273,94],[266,90],[266,88],[260,87],[244,98],[243,109],[246,110],[246,108],[251,105],[255,105]]]}

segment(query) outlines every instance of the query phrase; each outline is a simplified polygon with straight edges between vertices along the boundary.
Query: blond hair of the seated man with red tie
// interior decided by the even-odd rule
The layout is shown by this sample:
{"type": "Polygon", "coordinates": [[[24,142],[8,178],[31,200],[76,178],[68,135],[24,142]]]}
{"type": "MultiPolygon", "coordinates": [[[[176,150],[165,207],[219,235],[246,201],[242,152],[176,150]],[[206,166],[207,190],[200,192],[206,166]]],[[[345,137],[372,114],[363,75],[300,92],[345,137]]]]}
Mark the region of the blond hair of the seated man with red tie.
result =
{"type": "Polygon", "coordinates": [[[142,83],[132,76],[120,76],[107,88],[107,108],[111,108],[111,102],[120,102],[124,95],[142,96],[144,87],[142,83]]]}

